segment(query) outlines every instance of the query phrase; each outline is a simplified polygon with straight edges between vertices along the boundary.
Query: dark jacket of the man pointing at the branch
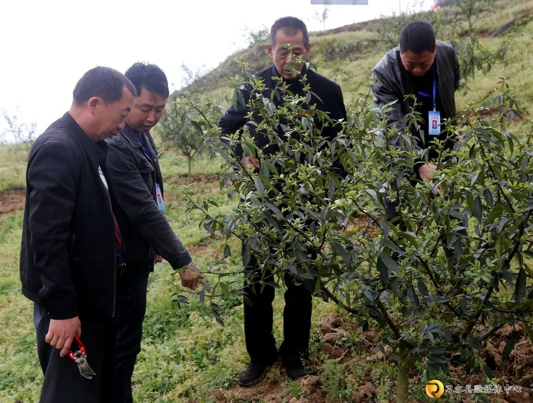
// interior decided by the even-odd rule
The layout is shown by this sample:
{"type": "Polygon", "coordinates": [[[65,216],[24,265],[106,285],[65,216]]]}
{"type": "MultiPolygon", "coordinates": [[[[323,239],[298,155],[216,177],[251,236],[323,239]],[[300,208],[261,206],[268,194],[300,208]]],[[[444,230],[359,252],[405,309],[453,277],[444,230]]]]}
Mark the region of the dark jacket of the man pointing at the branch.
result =
{"type": "Polygon", "coordinates": [[[163,192],[157,148],[150,133],[137,133],[126,125],[107,140],[107,170],[120,232],[126,246],[126,271],[154,270],[154,255],[163,256],[174,269],[191,263],[191,257],[176,237],[156,203],[156,183],[163,192]],[[150,158],[139,142],[147,145],[150,158]],[[116,200],[116,201],[115,201],[116,200]]]}

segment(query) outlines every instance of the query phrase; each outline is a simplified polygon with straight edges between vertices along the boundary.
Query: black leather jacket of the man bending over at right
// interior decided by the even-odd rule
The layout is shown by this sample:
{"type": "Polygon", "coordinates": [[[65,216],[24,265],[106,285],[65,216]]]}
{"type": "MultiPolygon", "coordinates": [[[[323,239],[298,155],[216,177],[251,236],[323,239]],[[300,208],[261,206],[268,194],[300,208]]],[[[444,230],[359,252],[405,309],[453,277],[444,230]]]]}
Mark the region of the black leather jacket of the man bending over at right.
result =
{"type": "MultiPolygon", "coordinates": [[[[437,54],[435,55],[435,67],[437,68],[437,93],[442,102],[441,122],[443,119],[452,118],[456,115],[455,91],[459,87],[459,63],[453,46],[446,42],[437,42],[437,54]]],[[[418,88],[413,75],[411,75],[400,59],[400,48],[397,46],[387,52],[377,63],[372,76],[377,82],[372,88],[374,93],[374,104],[381,108],[386,103],[398,100],[387,113],[387,127],[396,126],[398,133],[402,133],[406,128],[404,117],[411,111],[414,101],[404,100],[409,94],[418,94],[418,88]]],[[[418,98],[418,97],[417,97],[418,98]]],[[[416,110],[416,109],[415,109],[416,110]]],[[[411,130],[411,134],[418,135],[411,130]]],[[[439,138],[445,138],[442,134],[439,138]]],[[[391,136],[389,142],[396,148],[401,148],[401,137],[391,136]]],[[[427,144],[427,141],[425,141],[427,144]]],[[[415,151],[422,150],[422,141],[414,144],[415,151]]],[[[425,146],[427,147],[427,145],[425,146]]]]}

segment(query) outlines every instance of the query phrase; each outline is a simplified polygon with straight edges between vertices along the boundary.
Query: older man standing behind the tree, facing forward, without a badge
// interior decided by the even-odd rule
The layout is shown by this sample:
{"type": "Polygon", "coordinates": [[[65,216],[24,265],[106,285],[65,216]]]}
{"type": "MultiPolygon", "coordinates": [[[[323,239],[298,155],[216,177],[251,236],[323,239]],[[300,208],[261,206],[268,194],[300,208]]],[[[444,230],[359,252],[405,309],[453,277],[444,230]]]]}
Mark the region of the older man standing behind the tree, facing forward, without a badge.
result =
{"type": "MultiPolygon", "coordinates": [[[[294,17],[278,19],[270,30],[270,43],[266,45],[269,57],[273,65],[256,73],[257,77],[264,80],[266,92],[274,90],[277,80],[281,78],[288,85],[288,90],[295,95],[303,95],[302,76],[307,77],[306,84],[310,85],[312,96],[311,104],[316,108],[329,113],[334,120],[346,120],[341,87],[333,81],[322,77],[317,72],[308,68],[308,63],[298,63],[298,59],[306,60],[311,51],[309,35],[305,24],[294,17]],[[291,52],[292,51],[292,52],[291,52]],[[298,59],[296,59],[298,58],[298,59]],[[298,74],[293,75],[296,70],[298,74]]],[[[249,94],[247,95],[249,97],[249,94]]],[[[268,96],[265,94],[265,96],[268,96]]],[[[274,103],[280,106],[280,101],[274,97],[274,103]]],[[[223,134],[239,131],[247,123],[247,111],[241,105],[238,108],[231,107],[220,119],[219,126],[223,134]]],[[[334,138],[340,125],[324,126],[322,133],[325,138],[334,138]]],[[[257,134],[255,143],[265,153],[276,152],[278,148],[269,144],[266,136],[257,134]]],[[[239,154],[242,150],[236,150],[239,154]]],[[[239,155],[241,157],[242,155],[239,155]]],[[[256,168],[260,167],[260,161],[251,156],[246,156],[247,164],[256,168]]],[[[274,299],[274,287],[266,284],[262,291],[259,284],[261,273],[256,267],[257,261],[252,256],[247,272],[254,273],[251,282],[245,282],[246,299],[250,304],[244,304],[244,329],[246,348],[251,362],[239,377],[241,386],[251,386],[260,382],[266,372],[266,368],[277,360],[278,351],[276,341],[272,335],[272,301],[274,299]]],[[[271,281],[271,273],[267,273],[264,283],[271,281]]],[[[309,334],[311,330],[311,292],[313,284],[302,283],[289,273],[285,274],[287,291],[285,293],[284,310],[284,342],[281,344],[279,354],[287,369],[289,378],[295,380],[305,375],[302,364],[303,358],[309,356],[309,334]]],[[[311,282],[312,283],[312,282],[311,282]]]]}

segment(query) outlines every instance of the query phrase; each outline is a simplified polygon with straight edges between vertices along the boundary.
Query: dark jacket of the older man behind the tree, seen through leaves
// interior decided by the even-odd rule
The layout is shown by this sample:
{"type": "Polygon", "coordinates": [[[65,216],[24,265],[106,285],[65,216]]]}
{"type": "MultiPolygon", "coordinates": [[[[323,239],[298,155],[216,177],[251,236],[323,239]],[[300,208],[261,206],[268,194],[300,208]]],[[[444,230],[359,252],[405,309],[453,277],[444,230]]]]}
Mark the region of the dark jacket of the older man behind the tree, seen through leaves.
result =
{"type": "MultiPolygon", "coordinates": [[[[324,76],[321,76],[316,71],[308,69],[304,65],[302,69],[302,75],[306,74],[308,79],[308,84],[310,85],[310,91],[318,96],[312,95],[310,105],[316,105],[318,110],[329,112],[329,117],[333,120],[344,119],[346,117],[346,109],[344,107],[344,100],[342,96],[341,87],[333,82],[332,80],[327,79],[324,76]]],[[[272,77],[279,77],[278,70],[274,65],[264,69],[263,71],[257,72],[255,74],[257,77],[261,77],[266,87],[266,91],[263,93],[265,98],[270,98],[271,91],[276,88],[277,82],[272,79],[272,77]]],[[[300,83],[299,78],[292,80],[287,80],[290,83],[288,90],[294,95],[304,95],[302,83],[300,83]]],[[[248,101],[250,95],[248,91],[244,91],[245,100],[248,101]]],[[[280,106],[281,101],[278,96],[273,97],[273,102],[277,107],[280,106]]],[[[222,130],[223,134],[235,133],[246,123],[246,109],[238,104],[237,109],[231,106],[224,116],[220,119],[219,127],[222,130]]],[[[340,125],[324,127],[322,135],[326,139],[333,139],[341,130],[340,125]]],[[[282,134],[282,133],[280,133],[282,134]]],[[[260,149],[263,149],[265,154],[270,154],[278,150],[277,145],[270,144],[268,136],[262,135],[261,133],[256,133],[254,136],[255,144],[260,149]]],[[[242,156],[242,150],[236,150],[237,155],[242,156]]]]}

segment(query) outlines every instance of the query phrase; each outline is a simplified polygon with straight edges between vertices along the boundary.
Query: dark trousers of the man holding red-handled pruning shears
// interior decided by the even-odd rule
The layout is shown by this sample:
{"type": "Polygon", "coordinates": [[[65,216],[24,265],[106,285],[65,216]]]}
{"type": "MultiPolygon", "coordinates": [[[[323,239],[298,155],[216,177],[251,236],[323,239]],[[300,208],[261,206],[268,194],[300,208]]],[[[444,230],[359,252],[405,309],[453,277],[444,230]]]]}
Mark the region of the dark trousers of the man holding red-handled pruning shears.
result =
{"type": "MultiPolygon", "coordinates": [[[[50,318],[42,305],[34,305],[34,325],[37,332],[37,353],[43,369],[44,381],[40,403],[108,403],[113,385],[114,320],[79,316],[82,324],[80,339],[87,350],[87,362],[96,375],[82,377],[78,365],[68,356],[60,357],[60,350],[44,340],[50,318]]],[[[72,342],[71,351],[78,345],[72,342]]]]}

